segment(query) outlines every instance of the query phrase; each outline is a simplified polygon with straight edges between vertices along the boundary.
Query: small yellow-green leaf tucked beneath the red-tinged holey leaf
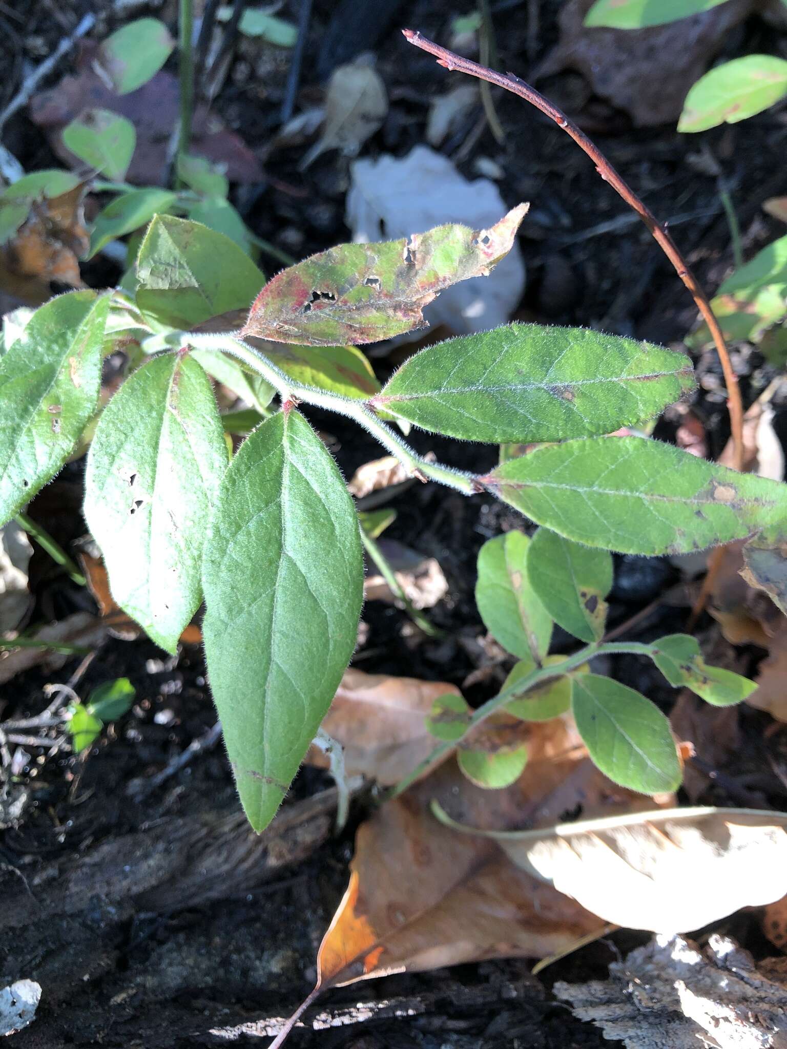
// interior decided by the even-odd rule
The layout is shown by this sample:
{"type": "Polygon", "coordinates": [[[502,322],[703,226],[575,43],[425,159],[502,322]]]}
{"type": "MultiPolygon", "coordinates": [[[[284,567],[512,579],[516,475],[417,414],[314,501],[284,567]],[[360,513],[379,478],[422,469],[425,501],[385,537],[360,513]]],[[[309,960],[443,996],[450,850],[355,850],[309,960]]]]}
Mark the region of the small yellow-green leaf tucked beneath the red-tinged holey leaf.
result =
{"type": "Polygon", "coordinates": [[[249,342],[304,386],[352,398],[374,397],[380,389],[371,365],[355,346],[290,346],[259,339],[249,342]]]}

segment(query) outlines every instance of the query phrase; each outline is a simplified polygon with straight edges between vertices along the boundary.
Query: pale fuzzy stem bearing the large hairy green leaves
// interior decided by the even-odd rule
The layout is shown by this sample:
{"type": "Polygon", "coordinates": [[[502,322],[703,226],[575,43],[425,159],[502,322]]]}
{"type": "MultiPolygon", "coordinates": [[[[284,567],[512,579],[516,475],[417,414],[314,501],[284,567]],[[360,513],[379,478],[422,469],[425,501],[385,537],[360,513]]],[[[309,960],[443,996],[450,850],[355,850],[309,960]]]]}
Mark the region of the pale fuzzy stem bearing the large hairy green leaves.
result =
{"type": "Polygon", "coordinates": [[[269,382],[282,401],[296,403],[302,401],[305,404],[324,408],[327,411],[336,411],[340,415],[354,420],[374,437],[377,437],[391,455],[396,455],[411,476],[420,477],[421,480],[438,480],[465,495],[473,495],[477,491],[473,474],[454,470],[452,467],[441,466],[439,463],[428,463],[422,458],[364,401],[343,397],[341,393],[329,393],[316,386],[305,386],[296,382],[281,368],[278,368],[264,354],[239,339],[234,331],[219,334],[182,331],[178,333],[177,338],[182,340],[182,343],[188,343],[194,349],[215,349],[231,354],[269,382]]]}

